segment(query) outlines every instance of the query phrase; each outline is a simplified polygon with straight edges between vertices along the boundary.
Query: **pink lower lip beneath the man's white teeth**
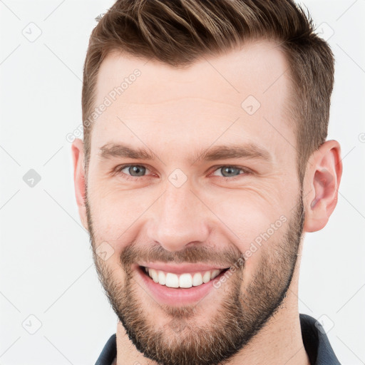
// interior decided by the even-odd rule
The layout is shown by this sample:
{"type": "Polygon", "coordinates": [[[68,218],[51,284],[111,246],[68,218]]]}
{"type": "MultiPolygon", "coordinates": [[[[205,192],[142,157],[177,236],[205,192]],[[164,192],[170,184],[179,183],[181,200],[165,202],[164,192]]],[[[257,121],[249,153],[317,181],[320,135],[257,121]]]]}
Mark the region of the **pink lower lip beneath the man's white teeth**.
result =
{"type": "Polygon", "coordinates": [[[153,297],[161,304],[175,305],[179,306],[182,304],[194,304],[200,302],[204,297],[209,294],[213,287],[213,281],[220,279],[220,277],[225,273],[225,270],[220,272],[217,277],[210,280],[210,282],[203,283],[197,287],[190,288],[170,288],[166,285],[161,285],[153,281],[153,279],[148,276],[145,269],[138,267],[136,269],[138,276],[142,280],[143,284],[148,288],[148,291],[153,294],[153,297]]]}

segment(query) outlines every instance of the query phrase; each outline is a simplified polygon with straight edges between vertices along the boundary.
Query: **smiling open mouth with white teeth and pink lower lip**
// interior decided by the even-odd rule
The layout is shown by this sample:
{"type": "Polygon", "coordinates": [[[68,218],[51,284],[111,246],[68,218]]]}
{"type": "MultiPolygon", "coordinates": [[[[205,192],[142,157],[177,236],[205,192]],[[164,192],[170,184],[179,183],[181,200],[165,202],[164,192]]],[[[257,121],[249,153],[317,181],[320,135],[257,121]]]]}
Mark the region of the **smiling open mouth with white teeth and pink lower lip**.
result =
{"type": "Polygon", "coordinates": [[[141,286],[160,304],[170,306],[200,302],[207,294],[218,290],[213,285],[229,267],[225,269],[200,269],[199,271],[170,270],[138,265],[137,280],[141,286]],[[176,271],[180,271],[177,273],[176,271]]]}

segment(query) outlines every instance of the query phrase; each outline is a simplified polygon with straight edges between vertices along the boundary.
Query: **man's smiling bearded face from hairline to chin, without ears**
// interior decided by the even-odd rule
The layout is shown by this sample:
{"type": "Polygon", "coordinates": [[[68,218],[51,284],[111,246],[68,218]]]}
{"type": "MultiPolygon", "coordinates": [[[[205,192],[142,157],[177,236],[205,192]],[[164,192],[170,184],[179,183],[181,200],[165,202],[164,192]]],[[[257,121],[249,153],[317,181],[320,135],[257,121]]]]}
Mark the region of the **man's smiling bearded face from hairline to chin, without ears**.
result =
{"type": "Polygon", "coordinates": [[[287,63],[267,42],[185,70],[113,53],[96,106],[135,69],[91,135],[96,267],[145,356],[216,364],[279,310],[297,262],[304,208],[287,63]]]}

